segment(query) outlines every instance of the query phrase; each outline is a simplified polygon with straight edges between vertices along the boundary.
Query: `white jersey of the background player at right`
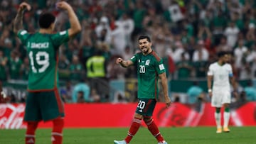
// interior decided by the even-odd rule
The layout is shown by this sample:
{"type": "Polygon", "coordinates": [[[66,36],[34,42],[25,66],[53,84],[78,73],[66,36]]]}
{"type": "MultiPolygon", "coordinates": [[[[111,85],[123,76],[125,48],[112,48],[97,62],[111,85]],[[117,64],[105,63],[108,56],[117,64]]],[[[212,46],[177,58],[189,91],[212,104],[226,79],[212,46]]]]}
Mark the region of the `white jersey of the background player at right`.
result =
{"type": "Polygon", "coordinates": [[[230,89],[230,75],[233,76],[230,64],[219,65],[214,62],[209,67],[208,75],[213,76],[213,89],[230,89]]]}

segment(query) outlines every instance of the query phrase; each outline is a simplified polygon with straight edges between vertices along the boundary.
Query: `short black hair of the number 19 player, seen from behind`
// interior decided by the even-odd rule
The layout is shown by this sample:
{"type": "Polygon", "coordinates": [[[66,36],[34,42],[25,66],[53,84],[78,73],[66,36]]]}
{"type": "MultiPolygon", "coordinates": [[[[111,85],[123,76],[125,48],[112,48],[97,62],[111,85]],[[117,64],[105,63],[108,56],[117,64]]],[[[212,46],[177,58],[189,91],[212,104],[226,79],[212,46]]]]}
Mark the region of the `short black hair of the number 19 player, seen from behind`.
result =
{"type": "Polygon", "coordinates": [[[54,23],[55,21],[55,16],[53,15],[53,13],[41,13],[41,15],[39,16],[39,27],[40,28],[50,28],[50,25],[52,23],[54,23]]]}

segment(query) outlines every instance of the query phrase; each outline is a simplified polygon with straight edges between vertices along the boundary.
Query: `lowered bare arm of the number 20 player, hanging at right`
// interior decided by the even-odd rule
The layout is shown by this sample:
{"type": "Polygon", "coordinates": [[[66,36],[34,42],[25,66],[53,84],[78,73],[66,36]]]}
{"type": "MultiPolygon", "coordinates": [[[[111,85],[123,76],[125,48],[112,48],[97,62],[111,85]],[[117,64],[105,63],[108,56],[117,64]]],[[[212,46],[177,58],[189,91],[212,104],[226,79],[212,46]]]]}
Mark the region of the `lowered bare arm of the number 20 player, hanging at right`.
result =
{"type": "Polygon", "coordinates": [[[167,84],[166,73],[164,72],[162,74],[159,74],[159,77],[161,79],[161,85],[164,91],[164,101],[166,103],[166,107],[169,107],[171,105],[171,99],[169,98],[169,95],[168,95],[168,84],[167,84]]]}

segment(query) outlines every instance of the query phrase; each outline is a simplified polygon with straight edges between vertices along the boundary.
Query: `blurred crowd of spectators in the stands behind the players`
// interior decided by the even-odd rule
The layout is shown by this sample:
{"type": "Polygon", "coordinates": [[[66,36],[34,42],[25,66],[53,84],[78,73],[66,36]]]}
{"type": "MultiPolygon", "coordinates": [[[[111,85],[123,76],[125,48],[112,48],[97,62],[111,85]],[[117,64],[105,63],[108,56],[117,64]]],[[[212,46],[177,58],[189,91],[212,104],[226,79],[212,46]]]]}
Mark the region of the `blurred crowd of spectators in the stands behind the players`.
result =
{"type": "MultiPolygon", "coordinates": [[[[38,30],[43,11],[56,16],[56,31],[69,28],[68,15],[56,1],[28,0],[23,26],[38,30]]],[[[28,78],[26,49],[12,31],[20,0],[0,2],[0,79],[28,78]]],[[[107,99],[112,79],[136,78],[134,67],[114,64],[137,52],[138,35],[149,35],[164,58],[170,79],[206,78],[216,52],[230,52],[237,79],[256,77],[256,2],[254,0],[73,0],[82,33],[60,47],[60,79],[87,79],[91,91],[107,99]],[[95,65],[95,63],[97,65],[95,65]],[[97,71],[97,72],[95,72],[97,71]],[[103,90],[104,91],[104,90],[103,90]]],[[[81,91],[80,91],[81,92],[81,91]]],[[[97,96],[96,96],[97,97],[97,96]]],[[[95,98],[95,101],[98,101],[95,98]]],[[[90,100],[91,101],[91,100],[90,100]]]]}

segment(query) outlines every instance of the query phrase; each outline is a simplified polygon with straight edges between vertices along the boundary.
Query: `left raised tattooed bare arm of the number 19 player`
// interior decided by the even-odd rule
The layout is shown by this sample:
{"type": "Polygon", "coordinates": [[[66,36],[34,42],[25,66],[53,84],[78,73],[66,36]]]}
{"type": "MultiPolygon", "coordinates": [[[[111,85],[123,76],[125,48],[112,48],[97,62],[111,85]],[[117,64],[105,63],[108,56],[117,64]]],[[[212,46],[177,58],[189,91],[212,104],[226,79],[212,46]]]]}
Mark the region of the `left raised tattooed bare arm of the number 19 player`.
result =
{"type": "Polygon", "coordinates": [[[31,6],[28,3],[23,2],[18,6],[18,13],[14,19],[14,33],[18,33],[18,31],[23,28],[23,13],[25,10],[30,11],[31,6]]]}

